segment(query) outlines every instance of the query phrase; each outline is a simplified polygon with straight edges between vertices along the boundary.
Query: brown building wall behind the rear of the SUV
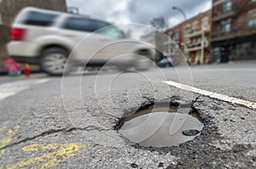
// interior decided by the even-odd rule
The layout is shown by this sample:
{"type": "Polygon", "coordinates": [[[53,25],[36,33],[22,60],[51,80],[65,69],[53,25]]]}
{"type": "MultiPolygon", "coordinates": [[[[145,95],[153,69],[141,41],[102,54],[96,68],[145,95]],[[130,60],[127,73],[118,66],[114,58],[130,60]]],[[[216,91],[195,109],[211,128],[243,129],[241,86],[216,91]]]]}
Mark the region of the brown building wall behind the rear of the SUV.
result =
{"type": "Polygon", "coordinates": [[[66,0],[0,0],[0,71],[5,70],[6,44],[9,42],[10,25],[21,8],[38,7],[67,11],[66,0]]]}

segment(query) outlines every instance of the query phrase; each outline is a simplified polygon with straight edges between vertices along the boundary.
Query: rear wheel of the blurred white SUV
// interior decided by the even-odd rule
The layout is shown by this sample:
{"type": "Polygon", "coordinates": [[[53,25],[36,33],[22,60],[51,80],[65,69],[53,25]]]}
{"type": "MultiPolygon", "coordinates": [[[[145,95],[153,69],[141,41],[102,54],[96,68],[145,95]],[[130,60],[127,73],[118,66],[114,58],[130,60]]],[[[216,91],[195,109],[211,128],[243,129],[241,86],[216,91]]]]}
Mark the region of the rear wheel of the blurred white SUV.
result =
{"type": "MultiPolygon", "coordinates": [[[[68,52],[64,48],[47,48],[42,54],[41,68],[51,76],[61,76],[64,73],[68,52]]],[[[68,70],[65,70],[65,74],[68,70]]]]}

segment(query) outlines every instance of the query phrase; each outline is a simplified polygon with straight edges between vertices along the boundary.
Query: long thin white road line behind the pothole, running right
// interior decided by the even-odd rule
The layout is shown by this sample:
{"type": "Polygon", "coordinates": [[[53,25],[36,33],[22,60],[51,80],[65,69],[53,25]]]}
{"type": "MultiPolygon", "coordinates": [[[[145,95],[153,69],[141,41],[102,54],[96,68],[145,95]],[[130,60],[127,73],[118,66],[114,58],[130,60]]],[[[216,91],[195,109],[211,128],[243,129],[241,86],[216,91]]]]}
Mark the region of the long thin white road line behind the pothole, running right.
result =
{"type": "Polygon", "coordinates": [[[236,98],[233,98],[233,97],[221,94],[221,93],[209,92],[207,90],[202,90],[200,88],[191,87],[189,85],[184,85],[184,84],[178,83],[178,82],[173,82],[173,81],[162,81],[162,82],[164,82],[168,85],[171,85],[173,87],[177,87],[177,88],[187,90],[187,91],[190,91],[193,93],[199,93],[199,94],[208,96],[212,99],[220,99],[220,100],[223,100],[226,102],[230,102],[232,104],[240,104],[240,105],[244,105],[250,109],[256,110],[256,103],[254,103],[254,102],[250,102],[250,101],[243,100],[243,99],[236,99],[236,98]]]}

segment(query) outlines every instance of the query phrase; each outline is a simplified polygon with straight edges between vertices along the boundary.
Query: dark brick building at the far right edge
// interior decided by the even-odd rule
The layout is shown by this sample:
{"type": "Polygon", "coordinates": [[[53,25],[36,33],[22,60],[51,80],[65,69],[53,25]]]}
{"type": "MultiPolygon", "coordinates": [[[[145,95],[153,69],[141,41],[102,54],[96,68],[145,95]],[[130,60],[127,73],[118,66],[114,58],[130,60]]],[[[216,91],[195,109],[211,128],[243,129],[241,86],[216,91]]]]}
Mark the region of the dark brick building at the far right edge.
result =
{"type": "Polygon", "coordinates": [[[212,0],[216,61],[256,59],[256,0],[212,0]]]}

